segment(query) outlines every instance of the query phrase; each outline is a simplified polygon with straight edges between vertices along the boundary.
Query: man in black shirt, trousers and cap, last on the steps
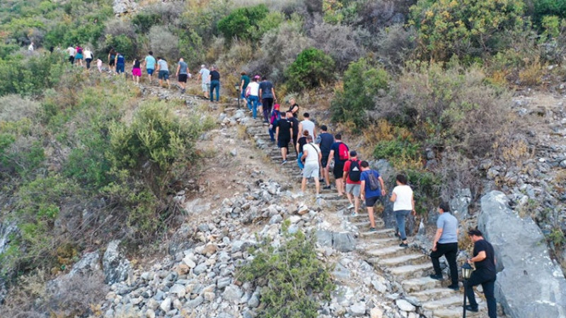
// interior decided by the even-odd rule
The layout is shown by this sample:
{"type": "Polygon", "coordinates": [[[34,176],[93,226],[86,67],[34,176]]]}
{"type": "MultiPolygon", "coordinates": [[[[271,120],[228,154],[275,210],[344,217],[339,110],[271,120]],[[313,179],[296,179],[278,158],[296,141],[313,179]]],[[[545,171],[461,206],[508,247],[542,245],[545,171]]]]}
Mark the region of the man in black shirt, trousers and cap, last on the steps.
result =
{"type": "Polygon", "coordinates": [[[475,264],[475,271],[472,272],[472,276],[464,286],[470,302],[470,305],[466,305],[466,310],[470,312],[478,311],[478,302],[475,302],[473,286],[482,284],[483,294],[487,300],[487,313],[490,318],[497,318],[497,302],[495,302],[495,296],[493,295],[495,278],[497,277],[493,246],[490,242],[483,239],[483,234],[480,230],[468,230],[468,236],[473,242],[473,257],[468,259],[468,263],[475,264]]]}

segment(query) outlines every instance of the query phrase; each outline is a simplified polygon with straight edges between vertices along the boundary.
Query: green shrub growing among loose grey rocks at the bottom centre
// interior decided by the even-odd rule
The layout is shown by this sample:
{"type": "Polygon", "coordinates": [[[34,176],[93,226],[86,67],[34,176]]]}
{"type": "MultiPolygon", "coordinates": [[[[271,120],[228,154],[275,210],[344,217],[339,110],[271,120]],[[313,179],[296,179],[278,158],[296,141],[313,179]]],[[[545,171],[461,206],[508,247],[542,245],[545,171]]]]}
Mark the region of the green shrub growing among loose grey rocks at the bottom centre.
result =
{"type": "Polygon", "coordinates": [[[265,240],[250,251],[255,257],[238,279],[261,287],[260,317],[318,317],[318,298],[330,300],[335,285],[328,266],[316,256],[316,240],[300,231],[290,235],[288,228],[287,220],[277,249],[265,240]]]}

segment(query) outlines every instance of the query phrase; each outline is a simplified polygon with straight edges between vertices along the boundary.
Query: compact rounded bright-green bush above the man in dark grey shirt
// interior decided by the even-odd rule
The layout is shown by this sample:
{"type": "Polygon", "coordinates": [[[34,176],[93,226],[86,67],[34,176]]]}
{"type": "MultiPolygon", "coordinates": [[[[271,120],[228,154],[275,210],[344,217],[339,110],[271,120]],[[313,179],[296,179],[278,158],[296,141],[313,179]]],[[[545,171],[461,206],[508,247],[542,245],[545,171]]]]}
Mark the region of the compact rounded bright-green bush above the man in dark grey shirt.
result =
{"type": "Polygon", "coordinates": [[[320,49],[305,49],[285,70],[291,90],[315,88],[333,79],[334,60],[320,49]]]}

